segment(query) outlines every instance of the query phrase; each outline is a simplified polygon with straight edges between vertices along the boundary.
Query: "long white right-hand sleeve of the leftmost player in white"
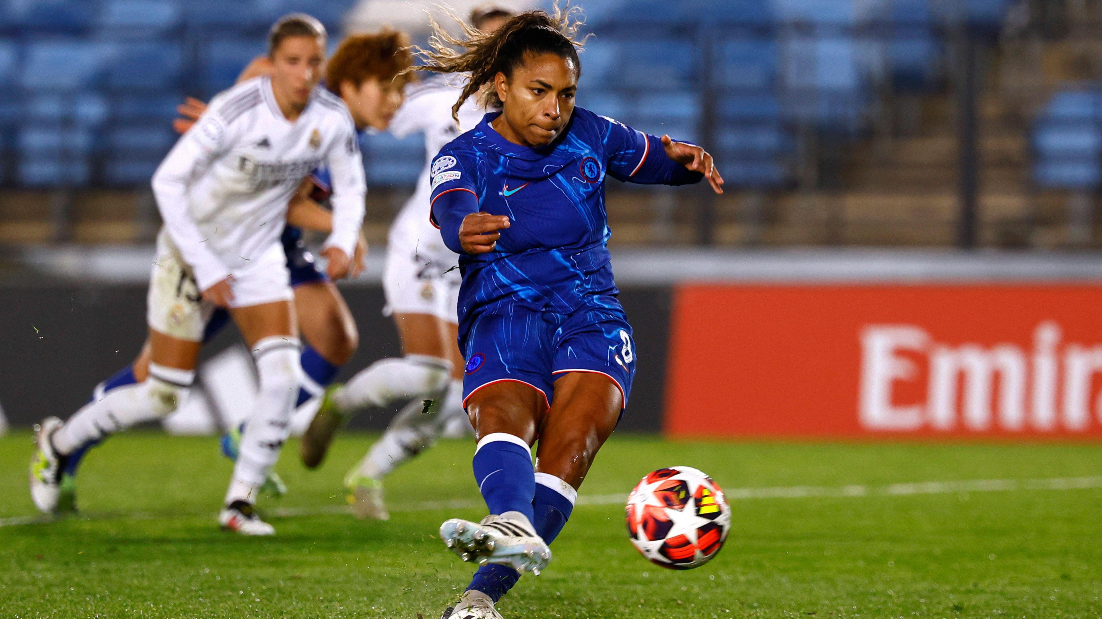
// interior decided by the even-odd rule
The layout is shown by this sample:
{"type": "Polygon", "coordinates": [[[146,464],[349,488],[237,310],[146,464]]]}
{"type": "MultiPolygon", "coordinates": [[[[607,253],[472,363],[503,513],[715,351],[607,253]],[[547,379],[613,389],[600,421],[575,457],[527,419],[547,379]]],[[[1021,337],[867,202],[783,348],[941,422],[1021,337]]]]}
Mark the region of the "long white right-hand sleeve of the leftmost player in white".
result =
{"type": "Polygon", "coordinates": [[[359,139],[350,118],[346,123],[342,123],[336,139],[329,146],[326,167],[329,171],[333,192],[329,196],[329,205],[333,207],[333,231],[322,247],[339,248],[350,258],[364,225],[364,207],[367,198],[364,158],[360,155],[359,139]]]}

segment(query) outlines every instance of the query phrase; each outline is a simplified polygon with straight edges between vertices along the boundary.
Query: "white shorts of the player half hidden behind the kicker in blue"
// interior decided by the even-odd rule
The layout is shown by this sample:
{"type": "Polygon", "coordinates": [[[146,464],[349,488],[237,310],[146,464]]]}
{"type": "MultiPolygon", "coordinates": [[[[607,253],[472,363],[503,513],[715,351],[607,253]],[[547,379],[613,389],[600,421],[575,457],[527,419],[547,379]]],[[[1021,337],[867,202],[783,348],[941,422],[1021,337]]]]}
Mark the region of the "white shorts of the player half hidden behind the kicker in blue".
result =
{"type": "Polygon", "coordinates": [[[383,314],[430,314],[452,324],[460,322],[460,257],[444,246],[440,230],[399,214],[387,239],[382,291],[383,314]]]}

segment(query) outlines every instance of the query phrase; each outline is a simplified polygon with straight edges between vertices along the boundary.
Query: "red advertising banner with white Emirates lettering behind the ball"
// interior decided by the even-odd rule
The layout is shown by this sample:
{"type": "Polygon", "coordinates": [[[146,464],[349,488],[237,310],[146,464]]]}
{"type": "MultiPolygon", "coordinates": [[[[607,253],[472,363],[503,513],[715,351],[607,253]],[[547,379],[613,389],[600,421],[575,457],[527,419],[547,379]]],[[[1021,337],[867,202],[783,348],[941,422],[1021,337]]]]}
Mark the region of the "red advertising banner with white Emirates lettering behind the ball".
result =
{"type": "Polygon", "coordinates": [[[683,285],[680,436],[1102,437],[1102,285],[683,285]]]}

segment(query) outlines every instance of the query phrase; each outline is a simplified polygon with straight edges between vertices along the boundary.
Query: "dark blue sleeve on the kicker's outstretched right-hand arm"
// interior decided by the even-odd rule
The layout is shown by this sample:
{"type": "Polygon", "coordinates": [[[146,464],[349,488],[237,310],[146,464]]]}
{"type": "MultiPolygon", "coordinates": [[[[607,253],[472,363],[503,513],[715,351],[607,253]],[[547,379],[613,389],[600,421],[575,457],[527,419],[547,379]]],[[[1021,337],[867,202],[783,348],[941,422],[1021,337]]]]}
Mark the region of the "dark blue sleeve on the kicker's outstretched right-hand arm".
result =
{"type": "Polygon", "coordinates": [[[704,177],[670,159],[661,138],[611,118],[597,119],[606,126],[605,153],[608,173],[614,178],[642,185],[689,185],[704,177]]]}

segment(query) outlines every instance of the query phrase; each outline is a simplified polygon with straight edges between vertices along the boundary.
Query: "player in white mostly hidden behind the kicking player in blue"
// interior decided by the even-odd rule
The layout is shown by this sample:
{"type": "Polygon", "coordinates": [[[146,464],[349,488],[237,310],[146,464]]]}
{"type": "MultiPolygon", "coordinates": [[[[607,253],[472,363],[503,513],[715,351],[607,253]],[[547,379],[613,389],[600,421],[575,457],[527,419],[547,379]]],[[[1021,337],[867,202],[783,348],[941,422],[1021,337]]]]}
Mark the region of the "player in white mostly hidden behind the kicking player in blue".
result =
{"type": "MultiPolygon", "coordinates": [[[[482,32],[493,32],[511,14],[487,4],[472,11],[469,23],[482,32]]],[[[385,406],[409,395],[413,381],[423,384],[423,391],[395,416],[364,459],[345,476],[354,513],[359,518],[388,519],[382,478],[431,446],[449,424],[471,427],[463,410],[464,360],[456,345],[458,256],[429,222],[433,158],[444,144],[473,129],[485,111],[475,99],[468,99],[453,118],[452,107],[466,83],[466,75],[441,75],[411,84],[406,102],[390,123],[390,132],[398,138],[423,133],[426,155],[417,189],[390,227],[382,276],[386,311],[398,326],[404,357],[377,361],[347,384],[328,390],[303,435],[303,463],[315,467],[325,457],[336,430],[358,410],[385,406]],[[423,400],[434,402],[425,405],[423,400]]]]}

